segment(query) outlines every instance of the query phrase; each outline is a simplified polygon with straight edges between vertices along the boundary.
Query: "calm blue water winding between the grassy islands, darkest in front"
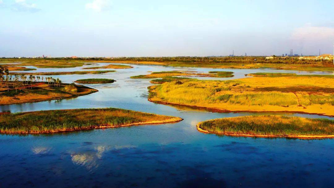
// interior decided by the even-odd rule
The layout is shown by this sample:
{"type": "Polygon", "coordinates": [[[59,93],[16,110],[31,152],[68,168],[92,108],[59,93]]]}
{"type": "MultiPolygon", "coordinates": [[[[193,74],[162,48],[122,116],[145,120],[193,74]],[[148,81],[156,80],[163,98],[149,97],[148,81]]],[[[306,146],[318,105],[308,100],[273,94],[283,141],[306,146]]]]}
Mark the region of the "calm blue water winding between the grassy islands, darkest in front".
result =
{"type": "MultiPolygon", "coordinates": [[[[71,71],[80,68],[38,68],[36,71],[71,71]]],[[[82,78],[112,78],[117,81],[111,84],[86,84],[99,92],[74,99],[0,106],[2,112],[115,107],[184,119],[174,124],[52,135],[0,135],[0,187],[333,185],[334,140],[244,138],[203,134],[196,130],[196,124],[200,121],[253,113],[211,113],[154,104],[147,101],[147,87],[151,85],[149,79],[129,78],[132,75],[148,74],[147,71],[166,70],[188,69],[134,65],[132,69],[117,69],[117,72],[100,75],[55,75],[52,77],[58,77],[67,83],[82,78]]],[[[207,72],[231,69],[189,70],[207,72]]],[[[245,77],[244,74],[252,72],[310,74],[303,71],[271,69],[232,71],[235,72],[235,77],[221,79],[242,78],[245,77]]],[[[312,72],[314,73],[327,72],[312,72]]],[[[327,118],[292,113],[275,114],[327,118]]]]}

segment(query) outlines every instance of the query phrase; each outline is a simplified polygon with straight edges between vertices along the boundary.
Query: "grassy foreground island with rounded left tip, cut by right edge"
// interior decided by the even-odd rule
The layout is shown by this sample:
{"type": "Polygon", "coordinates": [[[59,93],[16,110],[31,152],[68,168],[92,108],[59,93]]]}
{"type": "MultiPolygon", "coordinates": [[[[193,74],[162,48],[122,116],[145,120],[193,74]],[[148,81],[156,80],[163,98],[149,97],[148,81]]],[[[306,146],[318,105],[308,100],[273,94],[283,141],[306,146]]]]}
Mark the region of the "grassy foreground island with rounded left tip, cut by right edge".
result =
{"type": "Polygon", "coordinates": [[[334,138],[334,120],[286,116],[243,116],[208,120],[205,133],[251,137],[334,138]]]}

